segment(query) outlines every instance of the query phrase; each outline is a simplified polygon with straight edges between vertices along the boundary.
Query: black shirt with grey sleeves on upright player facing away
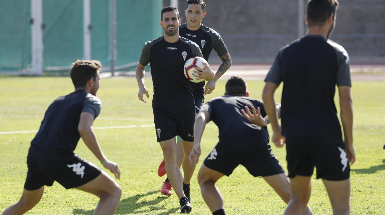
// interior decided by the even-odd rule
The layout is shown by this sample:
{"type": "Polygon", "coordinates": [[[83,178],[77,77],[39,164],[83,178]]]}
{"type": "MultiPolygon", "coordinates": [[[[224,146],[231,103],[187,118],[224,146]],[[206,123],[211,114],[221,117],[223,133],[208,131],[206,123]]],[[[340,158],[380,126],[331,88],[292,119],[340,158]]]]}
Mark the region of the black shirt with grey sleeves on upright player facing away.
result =
{"type": "Polygon", "coordinates": [[[349,56],[342,46],[323,36],[300,38],[280,49],[265,82],[283,82],[284,136],[342,138],[335,87],[351,86],[349,56]]]}

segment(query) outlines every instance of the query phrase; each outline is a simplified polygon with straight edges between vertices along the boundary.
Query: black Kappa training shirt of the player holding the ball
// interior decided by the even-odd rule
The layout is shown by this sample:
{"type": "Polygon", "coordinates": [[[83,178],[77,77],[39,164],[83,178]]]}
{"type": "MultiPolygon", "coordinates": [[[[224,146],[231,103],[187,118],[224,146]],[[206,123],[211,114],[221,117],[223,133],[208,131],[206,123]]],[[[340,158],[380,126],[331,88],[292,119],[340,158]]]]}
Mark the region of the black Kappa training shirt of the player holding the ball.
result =
{"type": "Polygon", "coordinates": [[[191,57],[202,57],[194,42],[179,36],[176,43],[168,43],[163,36],[144,44],[139,63],[151,62],[154,84],[153,107],[195,107],[192,82],[184,76],[184,63],[191,57]]]}

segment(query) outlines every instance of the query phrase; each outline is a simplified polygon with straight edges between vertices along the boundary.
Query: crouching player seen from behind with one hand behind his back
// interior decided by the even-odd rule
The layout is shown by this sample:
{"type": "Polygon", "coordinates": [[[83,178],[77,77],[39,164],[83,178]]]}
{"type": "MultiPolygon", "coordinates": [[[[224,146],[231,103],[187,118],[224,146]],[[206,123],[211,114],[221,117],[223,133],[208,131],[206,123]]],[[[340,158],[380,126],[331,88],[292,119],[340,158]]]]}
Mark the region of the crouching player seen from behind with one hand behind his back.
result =
{"type": "MultiPolygon", "coordinates": [[[[198,163],[201,155],[201,138],[206,123],[212,120],[219,129],[219,142],[198,172],[202,197],[214,215],[225,214],[223,197],[215,183],[221,177],[229,176],[239,164],[254,177],[262,176],[286,204],[290,200],[288,177],[269,145],[268,118],[263,102],[248,95],[246,81],[233,76],[226,83],[225,95],[204,104],[195,121],[194,148],[189,156],[191,164],[198,163]]],[[[312,214],[309,206],[303,214],[312,214]]]]}

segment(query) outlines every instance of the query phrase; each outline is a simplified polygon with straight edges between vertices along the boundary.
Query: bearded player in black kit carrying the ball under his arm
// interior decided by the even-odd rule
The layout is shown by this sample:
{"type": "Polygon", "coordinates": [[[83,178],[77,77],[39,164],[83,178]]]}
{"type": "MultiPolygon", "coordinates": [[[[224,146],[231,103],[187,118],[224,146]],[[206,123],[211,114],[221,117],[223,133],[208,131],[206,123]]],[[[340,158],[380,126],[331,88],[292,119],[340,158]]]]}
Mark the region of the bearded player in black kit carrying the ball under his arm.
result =
{"type": "MultiPolygon", "coordinates": [[[[160,25],[164,31],[163,36],[144,44],[136,67],[138,97],[145,103],[143,94],[149,98],[144,86],[144,69],[151,62],[154,85],[152,110],[157,141],[163,151],[167,176],[179,198],[181,212],[190,212],[189,185],[195,166],[189,164],[188,158],[184,159],[182,177],[176,164],[175,136],[181,137],[183,151],[189,154],[194,145],[195,105],[192,82],[184,77],[183,67],[187,59],[202,57],[202,53],[197,44],[179,36],[181,20],[176,7],[167,6],[162,9],[160,25]]],[[[213,73],[209,68],[206,70],[213,73]]]]}

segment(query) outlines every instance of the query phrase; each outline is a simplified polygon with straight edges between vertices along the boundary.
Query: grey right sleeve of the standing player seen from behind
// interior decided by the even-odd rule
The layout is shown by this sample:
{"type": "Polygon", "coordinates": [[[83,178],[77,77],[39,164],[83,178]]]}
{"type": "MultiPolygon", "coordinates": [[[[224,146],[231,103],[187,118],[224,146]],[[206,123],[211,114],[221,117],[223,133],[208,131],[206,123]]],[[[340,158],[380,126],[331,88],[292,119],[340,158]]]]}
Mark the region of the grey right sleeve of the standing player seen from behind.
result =
{"type": "Polygon", "coordinates": [[[337,53],[337,86],[352,86],[352,81],[350,79],[350,61],[348,53],[345,49],[339,51],[336,49],[337,53]]]}

